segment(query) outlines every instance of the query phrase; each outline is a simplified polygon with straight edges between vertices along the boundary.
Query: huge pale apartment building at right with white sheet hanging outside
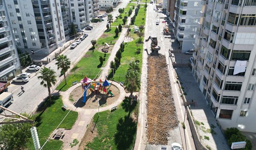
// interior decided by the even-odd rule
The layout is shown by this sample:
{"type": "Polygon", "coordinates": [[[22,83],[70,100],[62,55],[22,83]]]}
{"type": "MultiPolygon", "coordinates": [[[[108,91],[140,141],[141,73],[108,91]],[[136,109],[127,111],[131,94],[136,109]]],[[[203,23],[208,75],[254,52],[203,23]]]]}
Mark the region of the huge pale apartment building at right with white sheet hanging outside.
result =
{"type": "Polygon", "coordinates": [[[256,132],[256,1],[204,1],[192,74],[223,129],[256,132]]]}

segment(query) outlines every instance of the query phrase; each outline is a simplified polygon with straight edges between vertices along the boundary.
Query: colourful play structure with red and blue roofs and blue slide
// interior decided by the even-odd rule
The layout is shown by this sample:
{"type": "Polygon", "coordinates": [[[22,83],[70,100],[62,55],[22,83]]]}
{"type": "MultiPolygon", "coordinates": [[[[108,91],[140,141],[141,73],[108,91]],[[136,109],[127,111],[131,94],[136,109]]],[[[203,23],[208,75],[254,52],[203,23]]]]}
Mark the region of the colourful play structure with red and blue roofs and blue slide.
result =
{"type": "Polygon", "coordinates": [[[100,80],[99,82],[96,82],[95,80],[92,80],[90,78],[87,78],[87,76],[85,76],[84,79],[80,80],[80,82],[82,84],[82,89],[84,92],[84,98],[83,98],[84,103],[86,102],[86,95],[88,90],[90,90],[94,94],[99,94],[101,91],[103,91],[103,94],[110,94],[111,96],[114,96],[114,94],[112,94],[111,90],[109,89],[111,84],[106,79],[102,83],[102,80],[100,80]]]}

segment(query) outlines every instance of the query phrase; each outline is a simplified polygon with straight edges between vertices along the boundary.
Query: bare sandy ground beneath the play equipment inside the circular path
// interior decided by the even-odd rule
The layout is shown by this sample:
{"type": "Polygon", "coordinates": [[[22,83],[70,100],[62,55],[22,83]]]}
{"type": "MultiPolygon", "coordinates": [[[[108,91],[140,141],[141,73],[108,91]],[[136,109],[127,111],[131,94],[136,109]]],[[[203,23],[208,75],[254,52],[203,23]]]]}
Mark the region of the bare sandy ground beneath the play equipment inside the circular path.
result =
{"type": "Polygon", "coordinates": [[[94,94],[94,92],[92,93],[88,90],[90,92],[87,93],[86,102],[83,103],[84,96],[80,97],[83,94],[82,86],[79,86],[70,93],[70,102],[74,104],[79,98],[78,102],[75,104],[76,107],[95,109],[98,108],[97,98],[101,97],[100,107],[105,107],[114,103],[120,95],[120,91],[116,86],[111,85],[110,90],[112,90],[112,93],[114,94],[113,97],[110,94],[104,94],[103,91],[99,92],[99,94],[94,94]]]}

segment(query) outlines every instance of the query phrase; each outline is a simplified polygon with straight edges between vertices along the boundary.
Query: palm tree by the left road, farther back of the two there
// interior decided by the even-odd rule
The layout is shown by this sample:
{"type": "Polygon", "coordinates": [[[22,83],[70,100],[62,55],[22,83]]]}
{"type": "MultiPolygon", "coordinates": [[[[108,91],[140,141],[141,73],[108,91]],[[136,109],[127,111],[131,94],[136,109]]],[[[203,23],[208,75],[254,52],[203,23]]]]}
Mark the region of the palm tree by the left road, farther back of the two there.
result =
{"type": "Polygon", "coordinates": [[[67,80],[66,80],[66,72],[68,71],[68,69],[70,68],[70,60],[69,58],[67,58],[67,56],[65,55],[60,55],[57,57],[56,59],[56,65],[58,66],[58,69],[61,68],[61,71],[64,73],[64,78],[65,78],[65,84],[67,84],[67,80]]]}

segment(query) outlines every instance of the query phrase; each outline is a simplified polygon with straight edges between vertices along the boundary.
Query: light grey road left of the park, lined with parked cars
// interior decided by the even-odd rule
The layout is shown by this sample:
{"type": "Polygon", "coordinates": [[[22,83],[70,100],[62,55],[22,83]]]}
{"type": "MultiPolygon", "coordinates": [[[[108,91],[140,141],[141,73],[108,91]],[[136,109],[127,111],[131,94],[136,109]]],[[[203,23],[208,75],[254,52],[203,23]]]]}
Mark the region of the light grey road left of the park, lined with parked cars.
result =
{"type": "MultiPolygon", "coordinates": [[[[122,0],[122,3],[120,3],[117,8],[114,8],[114,11],[111,13],[113,15],[113,18],[115,18],[115,16],[119,14],[118,8],[125,7],[128,2],[128,0],[122,0]]],[[[106,23],[107,17],[105,17],[104,21],[101,23],[91,24],[92,26],[95,25],[95,27],[91,31],[85,31],[85,33],[88,33],[88,37],[73,50],[68,48],[68,50],[65,50],[63,52],[64,55],[67,55],[67,57],[70,58],[71,65],[76,64],[76,62],[78,62],[78,60],[82,58],[83,54],[88,51],[88,49],[91,47],[90,41],[92,39],[98,39],[103,34],[104,30],[106,30],[106,23]]],[[[56,60],[52,60],[52,62],[47,64],[45,67],[51,67],[51,69],[56,72],[57,81],[59,81],[62,76],[60,76],[60,70],[57,70],[57,65],[55,65],[55,63],[56,60]]],[[[28,72],[32,73],[33,71],[28,72]]],[[[12,92],[14,99],[14,102],[8,107],[10,110],[18,113],[31,113],[34,109],[37,108],[38,104],[40,104],[42,100],[48,96],[48,90],[47,88],[44,88],[40,85],[41,80],[38,80],[38,75],[39,74],[35,76],[35,73],[33,72],[29,82],[25,84],[12,83],[8,87],[8,91],[12,92]],[[20,86],[24,87],[24,93],[21,92],[20,86]]],[[[53,91],[54,88],[52,88],[51,90],[53,91]]]]}

